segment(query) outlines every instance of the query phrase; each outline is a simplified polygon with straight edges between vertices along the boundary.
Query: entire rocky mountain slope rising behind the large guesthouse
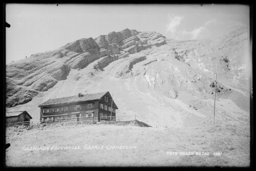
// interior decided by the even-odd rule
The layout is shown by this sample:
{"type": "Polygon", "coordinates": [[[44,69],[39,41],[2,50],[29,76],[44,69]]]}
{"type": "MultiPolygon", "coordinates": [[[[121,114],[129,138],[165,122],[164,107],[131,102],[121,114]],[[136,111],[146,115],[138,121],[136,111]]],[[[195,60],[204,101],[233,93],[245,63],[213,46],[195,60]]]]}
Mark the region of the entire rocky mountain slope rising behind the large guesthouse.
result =
{"type": "Polygon", "coordinates": [[[6,106],[39,119],[49,98],[110,91],[118,115],[155,126],[181,126],[183,118],[209,123],[248,121],[249,27],[214,40],[172,40],[125,29],[80,39],[6,67],[6,106]],[[247,120],[246,120],[247,119],[247,120]]]}

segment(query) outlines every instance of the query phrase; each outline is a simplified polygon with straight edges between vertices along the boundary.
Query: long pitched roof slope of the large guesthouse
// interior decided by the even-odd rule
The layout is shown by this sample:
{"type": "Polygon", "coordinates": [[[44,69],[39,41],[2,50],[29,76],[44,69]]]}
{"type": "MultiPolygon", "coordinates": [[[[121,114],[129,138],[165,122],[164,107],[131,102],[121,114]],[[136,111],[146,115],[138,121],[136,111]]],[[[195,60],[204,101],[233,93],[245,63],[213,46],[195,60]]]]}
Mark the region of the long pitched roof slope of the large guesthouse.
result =
{"type": "Polygon", "coordinates": [[[84,94],[81,97],[79,97],[78,95],[73,95],[73,96],[69,96],[69,97],[61,97],[61,98],[58,98],[58,99],[49,99],[48,101],[40,104],[38,107],[48,106],[48,105],[72,103],[72,102],[84,102],[84,101],[99,100],[107,92],[108,91],[98,92],[98,93],[93,93],[93,94],[84,94]]]}

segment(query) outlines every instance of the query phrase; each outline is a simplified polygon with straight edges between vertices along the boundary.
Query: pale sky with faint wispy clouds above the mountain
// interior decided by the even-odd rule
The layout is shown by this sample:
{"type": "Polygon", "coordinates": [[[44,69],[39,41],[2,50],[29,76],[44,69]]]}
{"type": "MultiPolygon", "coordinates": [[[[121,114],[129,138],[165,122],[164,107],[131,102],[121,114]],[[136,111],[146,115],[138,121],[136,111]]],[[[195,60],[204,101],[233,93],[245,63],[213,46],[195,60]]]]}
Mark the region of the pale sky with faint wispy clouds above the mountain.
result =
{"type": "Polygon", "coordinates": [[[246,5],[7,4],[6,63],[124,29],[213,39],[249,25],[246,5]]]}

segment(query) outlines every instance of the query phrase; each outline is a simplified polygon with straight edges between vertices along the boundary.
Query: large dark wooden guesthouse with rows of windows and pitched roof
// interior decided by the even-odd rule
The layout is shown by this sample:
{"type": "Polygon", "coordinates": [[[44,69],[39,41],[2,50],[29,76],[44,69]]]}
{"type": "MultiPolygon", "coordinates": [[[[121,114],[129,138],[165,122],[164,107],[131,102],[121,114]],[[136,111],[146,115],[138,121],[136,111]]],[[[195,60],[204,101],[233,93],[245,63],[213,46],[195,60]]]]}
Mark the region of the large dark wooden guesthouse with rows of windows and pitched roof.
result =
{"type": "MultiPolygon", "coordinates": [[[[112,96],[110,92],[99,92],[93,94],[82,94],[50,99],[40,107],[40,121],[59,121],[68,118],[77,121],[97,118],[100,116],[111,116],[112,96]]],[[[117,106],[113,100],[112,116],[116,116],[117,106]]]]}

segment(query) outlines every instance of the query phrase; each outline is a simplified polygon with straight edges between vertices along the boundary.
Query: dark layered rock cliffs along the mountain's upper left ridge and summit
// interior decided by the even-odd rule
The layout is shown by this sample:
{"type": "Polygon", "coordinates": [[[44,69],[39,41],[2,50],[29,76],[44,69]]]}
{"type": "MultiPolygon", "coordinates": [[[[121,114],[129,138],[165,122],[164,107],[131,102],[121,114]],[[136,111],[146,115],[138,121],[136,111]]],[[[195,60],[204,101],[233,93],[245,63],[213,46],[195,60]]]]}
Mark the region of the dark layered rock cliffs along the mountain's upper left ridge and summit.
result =
{"type": "Polygon", "coordinates": [[[6,67],[6,106],[31,101],[38,92],[47,91],[59,80],[65,80],[71,69],[82,69],[100,58],[103,59],[96,68],[102,68],[105,62],[112,62],[119,56],[162,44],[166,42],[161,34],[125,29],[95,39],[82,38],[55,51],[34,54],[6,67]]]}

